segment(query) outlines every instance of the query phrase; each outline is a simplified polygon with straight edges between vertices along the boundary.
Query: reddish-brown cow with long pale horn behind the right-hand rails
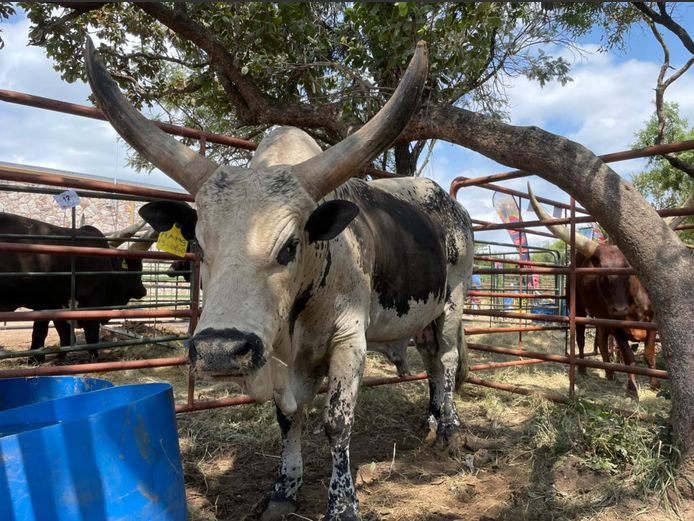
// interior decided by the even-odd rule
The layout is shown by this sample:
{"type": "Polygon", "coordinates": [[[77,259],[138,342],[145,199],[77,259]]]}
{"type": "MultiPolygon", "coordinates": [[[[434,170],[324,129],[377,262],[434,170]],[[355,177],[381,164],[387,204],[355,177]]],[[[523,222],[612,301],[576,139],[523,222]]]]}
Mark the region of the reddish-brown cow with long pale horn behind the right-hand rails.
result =
{"type": "MultiPolygon", "coordinates": [[[[528,185],[530,204],[538,218],[542,221],[551,219],[535,199],[528,185]]],[[[547,228],[567,244],[571,240],[570,231],[565,226],[547,225],[547,228]]],[[[629,268],[629,262],[624,254],[612,244],[599,244],[583,235],[575,235],[576,266],[579,268],[629,268]]],[[[567,292],[568,293],[568,292],[567,292]]],[[[653,306],[639,279],[635,275],[615,274],[582,274],[576,278],[576,316],[591,315],[595,318],[628,320],[636,322],[651,322],[653,306]]],[[[585,324],[576,324],[576,343],[579,358],[583,358],[585,347],[585,324]]],[[[634,352],[629,347],[629,341],[645,341],[644,358],[651,369],[655,368],[655,330],[635,329],[628,327],[597,326],[595,343],[604,361],[608,362],[608,337],[612,335],[619,346],[624,363],[635,365],[634,352]]],[[[585,367],[580,366],[579,372],[585,374],[585,367]]],[[[606,371],[609,379],[614,373],[606,371]]],[[[651,386],[656,387],[657,380],[651,378],[651,386]]],[[[638,398],[636,376],[627,377],[627,395],[638,398]]]]}

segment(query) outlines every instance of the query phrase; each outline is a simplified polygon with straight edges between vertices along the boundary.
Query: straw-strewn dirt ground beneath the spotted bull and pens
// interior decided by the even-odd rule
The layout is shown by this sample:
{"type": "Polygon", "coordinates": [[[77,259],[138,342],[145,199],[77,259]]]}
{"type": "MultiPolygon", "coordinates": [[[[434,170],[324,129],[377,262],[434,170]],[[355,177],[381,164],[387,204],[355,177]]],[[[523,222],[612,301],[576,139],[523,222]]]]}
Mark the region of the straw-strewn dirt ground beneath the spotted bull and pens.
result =
{"type": "MultiPolygon", "coordinates": [[[[29,331],[0,331],[0,352],[26,349],[29,337],[29,331]]],[[[468,340],[515,347],[518,335],[484,335],[468,340]]],[[[49,345],[55,343],[57,336],[51,332],[49,345]]],[[[558,332],[526,334],[523,347],[563,354],[564,336],[558,332]]],[[[182,345],[173,343],[171,347],[148,345],[107,351],[102,358],[154,358],[182,353],[182,345]]],[[[409,354],[413,370],[421,370],[416,351],[411,348],[409,354]]],[[[87,359],[81,353],[69,357],[70,362],[87,359]]],[[[472,364],[508,359],[471,352],[472,364]]],[[[24,359],[3,360],[0,369],[24,363],[24,359]]],[[[394,374],[380,355],[369,354],[367,375],[394,374]]],[[[566,367],[539,364],[479,372],[476,376],[567,394],[566,374],[566,367]]],[[[118,384],[168,381],[174,386],[177,401],[185,400],[185,367],[99,376],[118,384]]],[[[648,389],[644,378],[640,383],[641,401],[635,404],[624,398],[623,375],[607,381],[604,373],[592,370],[578,380],[578,395],[623,414],[666,415],[667,398],[648,389]]],[[[197,388],[196,399],[215,399],[234,392],[220,384],[202,385],[197,388]]],[[[291,520],[320,519],[324,511],[330,479],[330,453],[321,419],[324,399],[317,397],[307,416],[301,506],[296,515],[288,518],[291,520]]],[[[640,493],[629,465],[596,470],[586,463],[584,452],[559,447],[556,436],[551,442],[551,436],[542,431],[542,418],[561,414],[565,406],[467,384],[457,400],[465,443],[461,450],[451,453],[426,442],[421,425],[426,405],[427,386],[423,382],[368,388],[360,393],[351,467],[365,521],[694,519],[692,505],[681,504],[676,514],[656,497],[640,493]],[[541,438],[550,442],[541,443],[541,438]]],[[[271,486],[279,462],[274,406],[266,403],[182,414],[178,416],[178,428],[190,519],[256,519],[256,504],[271,486]]]]}

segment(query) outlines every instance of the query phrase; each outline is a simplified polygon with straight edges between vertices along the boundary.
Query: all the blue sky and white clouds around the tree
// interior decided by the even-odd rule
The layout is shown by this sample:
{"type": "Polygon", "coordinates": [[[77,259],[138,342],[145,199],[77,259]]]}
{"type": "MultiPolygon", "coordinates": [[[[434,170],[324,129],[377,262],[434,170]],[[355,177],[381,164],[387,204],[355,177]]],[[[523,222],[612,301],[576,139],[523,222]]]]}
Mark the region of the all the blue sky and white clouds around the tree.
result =
{"type": "MultiPolygon", "coordinates": [[[[694,34],[694,6],[678,6],[678,20],[694,34]]],[[[2,24],[5,48],[0,50],[0,89],[16,90],[87,104],[89,89],[85,84],[68,84],[53,70],[43,50],[27,46],[29,23],[23,16],[2,24]]],[[[669,34],[665,34],[671,52],[671,63],[681,66],[689,53],[669,34]]],[[[631,147],[635,132],[653,110],[653,88],[660,67],[662,51],[650,31],[635,28],[629,35],[624,54],[599,53],[599,33],[579,42],[583,56],[566,53],[572,62],[574,81],[565,86],[556,82],[541,88],[524,78],[508,82],[510,122],[514,125],[536,125],[550,132],[578,141],[598,154],[631,147]]],[[[694,72],[689,71],[667,91],[667,99],[680,104],[681,111],[694,124],[694,72]]],[[[147,184],[172,187],[162,173],[135,173],[125,164],[127,149],[105,122],[0,102],[0,161],[45,166],[74,172],[90,173],[123,182],[137,180],[147,184]]],[[[639,171],[643,161],[613,164],[629,179],[639,171]]],[[[432,177],[446,189],[457,176],[475,177],[509,170],[485,157],[461,147],[437,143],[424,175],[432,177]]],[[[538,195],[568,200],[566,194],[549,183],[530,178],[538,195]]],[[[525,189],[526,180],[504,183],[525,189]]],[[[491,205],[492,192],[464,189],[459,201],[474,218],[496,221],[491,205]]],[[[532,214],[527,215],[531,219],[532,214]]],[[[505,232],[478,234],[478,239],[506,240],[505,232]]],[[[531,243],[536,243],[531,238],[531,243]]]]}

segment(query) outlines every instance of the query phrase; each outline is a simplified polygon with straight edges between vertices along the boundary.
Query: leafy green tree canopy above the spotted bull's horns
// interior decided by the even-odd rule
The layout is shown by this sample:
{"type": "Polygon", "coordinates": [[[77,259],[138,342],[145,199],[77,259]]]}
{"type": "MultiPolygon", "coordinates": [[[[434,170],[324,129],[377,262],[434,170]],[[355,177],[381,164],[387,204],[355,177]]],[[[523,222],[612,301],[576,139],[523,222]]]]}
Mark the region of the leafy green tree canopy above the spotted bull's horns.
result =
{"type": "MultiPolygon", "coordinates": [[[[431,50],[430,101],[503,118],[509,78],[565,83],[561,52],[576,36],[601,24],[612,28],[605,46],[618,45],[635,16],[621,5],[526,2],[20,5],[31,42],[67,81],[84,79],[89,33],[138,107],[156,103],[173,123],[249,139],[291,124],[324,144],[375,114],[420,39],[431,50]]],[[[401,144],[380,166],[412,174],[424,149],[401,144]]]]}

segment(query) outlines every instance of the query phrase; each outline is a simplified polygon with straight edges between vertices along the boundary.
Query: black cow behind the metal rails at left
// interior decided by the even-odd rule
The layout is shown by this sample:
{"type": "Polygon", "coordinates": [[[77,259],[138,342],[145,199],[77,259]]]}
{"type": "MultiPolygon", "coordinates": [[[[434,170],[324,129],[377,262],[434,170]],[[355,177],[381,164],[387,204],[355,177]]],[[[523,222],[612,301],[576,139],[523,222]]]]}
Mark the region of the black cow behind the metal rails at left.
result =
{"type": "MultiPolygon", "coordinates": [[[[104,234],[93,226],[82,226],[75,230],[78,237],[89,239],[73,241],[69,238],[71,228],[63,228],[10,213],[0,213],[0,233],[21,235],[53,235],[65,236],[64,239],[50,241],[26,238],[5,239],[7,242],[34,244],[46,242],[53,245],[84,246],[109,248],[104,234]]],[[[149,246],[148,243],[145,243],[149,246]]],[[[142,249],[142,246],[134,246],[142,249]]],[[[69,272],[69,255],[33,254],[33,253],[4,253],[0,257],[0,272],[29,273],[29,272],[69,272]]],[[[109,272],[122,271],[120,274],[76,275],[75,299],[79,307],[122,306],[130,299],[141,299],[147,294],[142,285],[140,272],[142,260],[124,259],[117,257],[75,257],[77,272],[109,272]],[[132,273],[130,273],[132,272],[132,273]]],[[[14,275],[0,277],[0,310],[14,311],[19,307],[33,310],[60,309],[69,306],[70,275],[14,275]]],[[[85,340],[88,344],[99,341],[99,325],[107,319],[78,320],[79,327],[84,329],[85,340]]],[[[65,321],[54,321],[60,336],[60,345],[70,345],[70,326],[65,321]]],[[[48,334],[48,321],[36,321],[32,331],[30,349],[43,347],[48,334]]],[[[92,358],[97,357],[97,351],[89,351],[92,358]]],[[[44,356],[35,357],[35,361],[44,360],[44,356]]]]}

